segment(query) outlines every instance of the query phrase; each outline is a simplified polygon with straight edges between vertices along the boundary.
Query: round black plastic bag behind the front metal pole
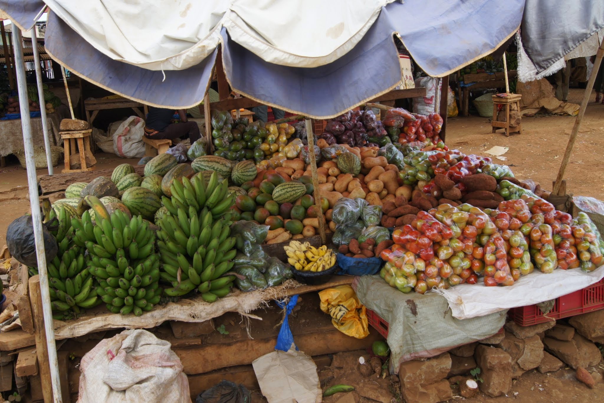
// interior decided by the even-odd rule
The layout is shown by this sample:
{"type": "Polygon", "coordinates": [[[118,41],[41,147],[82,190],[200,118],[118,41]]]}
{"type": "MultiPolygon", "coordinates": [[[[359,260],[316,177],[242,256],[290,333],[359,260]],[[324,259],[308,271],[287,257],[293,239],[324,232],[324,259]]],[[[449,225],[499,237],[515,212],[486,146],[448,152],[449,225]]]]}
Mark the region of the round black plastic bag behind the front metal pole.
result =
{"type": "MultiPolygon", "coordinates": [[[[50,262],[59,252],[57,240],[43,224],[42,235],[44,237],[46,261],[50,262]]],[[[31,216],[19,217],[8,225],[6,244],[10,256],[17,259],[19,263],[23,263],[25,266],[37,267],[36,240],[34,239],[34,226],[31,216]]]]}

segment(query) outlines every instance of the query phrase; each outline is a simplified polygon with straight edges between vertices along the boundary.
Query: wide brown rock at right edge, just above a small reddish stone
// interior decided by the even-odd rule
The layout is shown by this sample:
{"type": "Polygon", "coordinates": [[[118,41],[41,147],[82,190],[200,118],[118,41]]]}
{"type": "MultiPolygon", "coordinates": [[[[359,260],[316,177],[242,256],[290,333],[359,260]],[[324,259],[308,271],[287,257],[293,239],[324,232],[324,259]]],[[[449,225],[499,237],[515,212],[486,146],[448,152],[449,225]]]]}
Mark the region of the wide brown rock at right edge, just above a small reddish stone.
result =
{"type": "Polygon", "coordinates": [[[591,341],[578,333],[574,334],[571,341],[561,341],[545,337],[543,344],[548,352],[557,356],[557,358],[573,367],[573,369],[594,366],[602,358],[596,344],[591,343],[591,341]]]}

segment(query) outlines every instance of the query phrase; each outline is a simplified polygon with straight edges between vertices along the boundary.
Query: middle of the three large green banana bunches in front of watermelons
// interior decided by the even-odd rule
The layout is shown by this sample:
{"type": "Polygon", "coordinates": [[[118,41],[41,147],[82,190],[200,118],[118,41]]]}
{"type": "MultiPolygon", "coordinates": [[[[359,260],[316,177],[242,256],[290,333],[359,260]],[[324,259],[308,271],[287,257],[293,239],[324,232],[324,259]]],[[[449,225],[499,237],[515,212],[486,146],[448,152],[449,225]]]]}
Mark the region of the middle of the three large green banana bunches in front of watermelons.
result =
{"type": "Polygon", "coordinates": [[[76,231],[91,256],[88,270],[98,282],[95,295],[114,314],[140,316],[151,311],[162,290],[155,233],[149,222],[116,210],[109,218],[97,216],[96,224],[92,228],[83,224],[82,231],[76,231]]]}

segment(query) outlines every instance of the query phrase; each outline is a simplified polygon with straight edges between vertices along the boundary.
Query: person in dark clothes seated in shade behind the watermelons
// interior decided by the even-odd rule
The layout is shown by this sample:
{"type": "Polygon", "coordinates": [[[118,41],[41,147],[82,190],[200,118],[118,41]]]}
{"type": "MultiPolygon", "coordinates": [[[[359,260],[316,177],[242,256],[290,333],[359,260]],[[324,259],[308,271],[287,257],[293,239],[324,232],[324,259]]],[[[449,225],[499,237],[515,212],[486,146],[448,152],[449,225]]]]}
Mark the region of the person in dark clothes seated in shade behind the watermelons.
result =
{"type": "Polygon", "coordinates": [[[152,140],[168,138],[189,138],[191,144],[199,139],[199,126],[194,121],[187,120],[187,112],[183,109],[178,111],[181,123],[170,123],[174,115],[173,109],[162,109],[149,107],[149,114],[145,121],[145,136],[152,140]]]}

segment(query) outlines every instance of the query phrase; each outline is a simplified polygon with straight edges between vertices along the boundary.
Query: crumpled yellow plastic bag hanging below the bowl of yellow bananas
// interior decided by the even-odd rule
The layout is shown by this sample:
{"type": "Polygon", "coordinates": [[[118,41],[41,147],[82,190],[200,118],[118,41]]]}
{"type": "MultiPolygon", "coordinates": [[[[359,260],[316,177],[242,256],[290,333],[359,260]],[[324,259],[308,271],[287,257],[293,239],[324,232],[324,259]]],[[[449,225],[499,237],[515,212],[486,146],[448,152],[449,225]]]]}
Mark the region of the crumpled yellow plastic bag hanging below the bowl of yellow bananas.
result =
{"type": "Polygon", "coordinates": [[[345,335],[365,338],[369,335],[367,308],[359,302],[349,285],[327,288],[319,292],[321,311],[332,317],[333,326],[345,335]]]}

